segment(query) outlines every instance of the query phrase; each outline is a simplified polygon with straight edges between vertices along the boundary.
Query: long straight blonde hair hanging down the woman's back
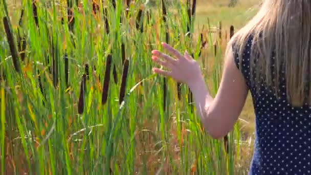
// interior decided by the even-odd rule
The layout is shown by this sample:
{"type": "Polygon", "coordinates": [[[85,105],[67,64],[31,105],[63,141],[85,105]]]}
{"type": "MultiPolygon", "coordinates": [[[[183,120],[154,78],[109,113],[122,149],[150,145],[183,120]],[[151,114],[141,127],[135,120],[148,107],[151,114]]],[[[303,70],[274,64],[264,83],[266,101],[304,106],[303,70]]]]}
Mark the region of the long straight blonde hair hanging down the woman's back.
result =
{"type": "MultiPolygon", "coordinates": [[[[255,17],[228,43],[227,52],[233,41],[237,44],[240,64],[250,36],[253,37],[251,73],[255,72],[251,75],[252,80],[263,77],[264,83],[278,94],[280,72],[283,70],[288,102],[293,106],[311,104],[311,1],[263,0],[255,17]],[[256,64],[255,57],[258,58],[256,64]]],[[[256,87],[260,83],[256,81],[256,87]]]]}

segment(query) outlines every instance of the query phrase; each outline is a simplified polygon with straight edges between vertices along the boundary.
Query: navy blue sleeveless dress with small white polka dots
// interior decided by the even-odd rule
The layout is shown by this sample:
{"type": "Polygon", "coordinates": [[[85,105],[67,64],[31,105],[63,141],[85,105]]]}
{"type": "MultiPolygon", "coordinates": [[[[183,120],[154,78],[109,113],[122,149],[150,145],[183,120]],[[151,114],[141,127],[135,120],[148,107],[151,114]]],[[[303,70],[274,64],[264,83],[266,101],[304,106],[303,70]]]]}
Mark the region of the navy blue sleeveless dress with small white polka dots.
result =
{"type": "MultiPolygon", "coordinates": [[[[250,174],[311,174],[311,106],[293,107],[288,103],[283,70],[280,96],[263,84],[260,91],[256,91],[250,79],[250,60],[258,60],[250,57],[252,41],[250,37],[241,67],[255,111],[255,145],[250,174]]],[[[240,69],[237,53],[234,52],[235,63],[240,69]]],[[[269,59],[273,62],[274,58],[269,59]]]]}

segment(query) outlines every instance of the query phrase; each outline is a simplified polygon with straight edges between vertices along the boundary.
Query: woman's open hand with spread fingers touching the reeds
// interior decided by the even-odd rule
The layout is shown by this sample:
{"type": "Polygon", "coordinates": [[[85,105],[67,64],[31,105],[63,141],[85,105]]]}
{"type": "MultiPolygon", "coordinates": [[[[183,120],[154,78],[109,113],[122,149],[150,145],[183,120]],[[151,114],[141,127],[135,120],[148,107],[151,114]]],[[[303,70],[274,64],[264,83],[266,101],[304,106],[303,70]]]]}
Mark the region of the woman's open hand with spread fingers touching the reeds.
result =
{"type": "Polygon", "coordinates": [[[162,46],[175,58],[172,58],[160,51],[152,51],[152,60],[167,68],[165,71],[158,68],[153,68],[153,72],[166,77],[171,77],[177,82],[186,83],[188,86],[202,80],[202,73],[198,63],[185,51],[182,55],[179,51],[173,49],[167,43],[162,43],[162,46]],[[162,58],[162,59],[160,59],[162,58]]]}

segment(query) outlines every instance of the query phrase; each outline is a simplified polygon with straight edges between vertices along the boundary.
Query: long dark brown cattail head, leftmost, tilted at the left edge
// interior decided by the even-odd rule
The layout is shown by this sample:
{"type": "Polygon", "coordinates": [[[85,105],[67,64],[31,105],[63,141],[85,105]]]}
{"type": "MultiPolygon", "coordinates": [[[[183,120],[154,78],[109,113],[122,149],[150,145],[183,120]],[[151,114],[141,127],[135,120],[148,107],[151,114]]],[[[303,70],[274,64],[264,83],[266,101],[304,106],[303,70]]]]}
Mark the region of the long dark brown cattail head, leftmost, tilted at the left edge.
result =
{"type": "Polygon", "coordinates": [[[3,24],[4,24],[4,28],[7,34],[7,38],[8,38],[8,42],[9,42],[9,47],[10,47],[10,51],[11,51],[11,55],[12,55],[12,60],[13,60],[13,64],[14,64],[14,68],[16,70],[16,72],[20,71],[20,64],[19,64],[19,60],[18,60],[18,53],[16,50],[16,46],[14,43],[14,38],[13,38],[13,33],[10,29],[9,26],[9,19],[7,16],[5,16],[3,18],[3,24]]]}

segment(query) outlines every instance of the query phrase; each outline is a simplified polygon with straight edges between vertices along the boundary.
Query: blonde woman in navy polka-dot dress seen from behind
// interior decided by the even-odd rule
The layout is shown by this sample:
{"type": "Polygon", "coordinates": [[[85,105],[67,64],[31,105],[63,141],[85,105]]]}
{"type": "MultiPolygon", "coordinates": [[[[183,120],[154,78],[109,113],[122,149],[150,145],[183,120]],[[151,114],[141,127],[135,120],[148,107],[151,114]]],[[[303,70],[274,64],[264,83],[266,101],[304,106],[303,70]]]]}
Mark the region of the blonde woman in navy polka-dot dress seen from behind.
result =
{"type": "Polygon", "coordinates": [[[251,92],[256,140],[250,174],[311,174],[311,1],[263,2],[228,43],[215,98],[187,52],[182,55],[166,43],[163,47],[173,57],[152,51],[152,60],[169,71],[153,72],[189,86],[213,138],[233,128],[251,92]]]}

